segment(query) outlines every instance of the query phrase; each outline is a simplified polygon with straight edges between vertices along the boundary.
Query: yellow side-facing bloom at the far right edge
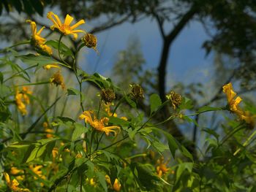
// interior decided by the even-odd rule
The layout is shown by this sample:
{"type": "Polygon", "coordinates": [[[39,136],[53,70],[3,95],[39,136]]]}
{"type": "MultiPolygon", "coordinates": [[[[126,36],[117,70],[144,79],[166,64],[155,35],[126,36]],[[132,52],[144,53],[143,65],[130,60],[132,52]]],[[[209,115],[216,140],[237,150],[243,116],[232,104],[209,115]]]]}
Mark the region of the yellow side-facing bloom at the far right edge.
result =
{"type": "Polygon", "coordinates": [[[236,97],[235,91],[233,91],[233,85],[231,82],[227,83],[223,87],[223,92],[226,93],[227,103],[231,112],[235,113],[238,118],[244,120],[252,128],[255,126],[256,115],[251,115],[248,111],[241,110],[238,104],[241,103],[242,99],[240,96],[236,97]],[[236,97],[236,99],[235,99],[236,97]]]}

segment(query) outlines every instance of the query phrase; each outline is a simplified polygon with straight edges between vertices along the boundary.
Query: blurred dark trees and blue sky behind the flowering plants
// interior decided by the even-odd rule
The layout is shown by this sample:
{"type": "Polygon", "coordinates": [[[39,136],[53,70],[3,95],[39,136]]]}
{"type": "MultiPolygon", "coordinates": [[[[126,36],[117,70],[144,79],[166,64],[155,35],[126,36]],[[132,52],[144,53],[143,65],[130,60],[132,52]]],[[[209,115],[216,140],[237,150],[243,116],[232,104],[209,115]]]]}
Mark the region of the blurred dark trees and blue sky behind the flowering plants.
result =
{"type": "MultiPolygon", "coordinates": [[[[254,0],[2,0],[0,9],[1,49],[31,38],[27,19],[34,20],[37,29],[46,27],[42,37],[58,39],[58,32],[50,31],[47,12],[55,12],[62,21],[69,14],[76,22],[85,19],[86,25],[80,28],[97,36],[99,54],[83,48],[78,55],[78,67],[89,74],[98,72],[111,77],[125,91],[129,90],[129,84],[138,83],[146,98],[151,93],[159,93],[165,101],[165,94],[176,91],[192,100],[195,111],[204,105],[225,106],[222,86],[233,82],[245,107],[255,104],[254,0]]],[[[79,41],[80,38],[76,41],[72,37],[64,39],[73,50],[79,41]]],[[[31,46],[16,50],[24,54],[34,51],[31,46]]],[[[50,77],[49,73],[40,72],[31,82],[50,77]]],[[[67,88],[74,86],[72,71],[66,70],[64,74],[67,88]]],[[[20,78],[10,84],[23,82],[26,80],[20,78]]],[[[94,107],[94,96],[99,90],[84,83],[83,91],[87,96],[86,107],[94,107]]],[[[59,92],[48,86],[34,90],[37,95],[41,93],[47,104],[59,92]]],[[[77,118],[79,104],[70,104],[72,98],[69,101],[64,98],[64,101],[69,103],[68,110],[63,106],[57,109],[77,118]]],[[[148,103],[140,101],[139,106],[147,114],[148,103]]],[[[36,113],[30,112],[31,117],[36,113]]],[[[232,118],[227,112],[223,115],[232,118]]],[[[164,109],[156,120],[168,116],[170,110],[164,109]]],[[[216,118],[211,112],[210,115],[197,115],[194,120],[202,126],[182,120],[163,126],[180,142],[187,143],[192,152],[196,146],[203,147],[206,137],[203,128],[221,133],[219,127],[224,118],[216,118]]]]}

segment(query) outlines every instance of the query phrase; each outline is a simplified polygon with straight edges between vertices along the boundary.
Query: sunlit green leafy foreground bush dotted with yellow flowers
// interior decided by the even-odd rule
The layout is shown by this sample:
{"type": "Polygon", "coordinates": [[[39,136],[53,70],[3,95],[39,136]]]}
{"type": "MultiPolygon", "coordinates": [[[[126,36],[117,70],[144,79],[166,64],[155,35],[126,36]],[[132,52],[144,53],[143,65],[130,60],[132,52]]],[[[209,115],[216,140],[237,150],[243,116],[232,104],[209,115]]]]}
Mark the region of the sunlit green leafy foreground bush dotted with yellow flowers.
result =
{"type": "MultiPolygon", "coordinates": [[[[59,41],[45,42],[53,53],[58,53],[56,56],[20,55],[12,48],[2,51],[0,172],[5,175],[0,183],[2,191],[255,190],[254,125],[226,120],[222,124],[222,135],[203,128],[208,137],[197,157],[162,129],[162,124],[173,119],[197,124],[193,116],[212,111],[219,112],[221,118],[221,111],[228,107],[204,106],[186,115],[193,108],[192,101],[185,97],[175,101],[169,96],[169,100],[162,102],[154,93],[148,98],[150,111],[145,114],[138,109],[138,100],[143,99],[138,85],[123,91],[111,78],[79,69],[74,56],[77,53],[61,42],[63,35],[59,41]],[[53,67],[50,71],[69,69],[76,84],[67,89],[62,86],[60,91],[57,86],[56,99],[50,96],[52,102],[45,102],[35,91],[20,91],[20,86],[35,89],[52,86],[48,84],[53,82],[63,85],[63,77],[58,76],[54,81],[54,75],[50,80],[44,77],[38,81],[43,67],[53,67]],[[22,82],[17,84],[20,78],[22,82]],[[94,99],[94,107],[87,104],[90,95],[83,91],[86,82],[102,91],[94,99]],[[27,106],[28,115],[20,114],[23,109],[20,96],[23,103],[31,101],[27,106]],[[67,100],[70,98],[72,103],[67,100]],[[61,112],[56,111],[56,104],[63,107],[61,112]],[[65,107],[72,110],[75,104],[79,106],[78,115],[74,112],[64,115],[65,107]],[[154,116],[159,115],[163,107],[170,110],[170,117],[156,122],[154,116]],[[83,118],[84,122],[80,120],[83,118]],[[167,158],[171,158],[170,163],[167,158]]],[[[82,51],[82,47],[85,47],[83,42],[75,50],[82,51]]],[[[46,76],[48,78],[48,74],[46,76]]],[[[173,95],[181,98],[177,93],[173,95]]],[[[247,110],[256,113],[255,107],[247,110]]]]}

